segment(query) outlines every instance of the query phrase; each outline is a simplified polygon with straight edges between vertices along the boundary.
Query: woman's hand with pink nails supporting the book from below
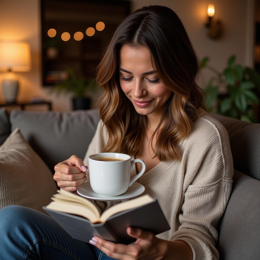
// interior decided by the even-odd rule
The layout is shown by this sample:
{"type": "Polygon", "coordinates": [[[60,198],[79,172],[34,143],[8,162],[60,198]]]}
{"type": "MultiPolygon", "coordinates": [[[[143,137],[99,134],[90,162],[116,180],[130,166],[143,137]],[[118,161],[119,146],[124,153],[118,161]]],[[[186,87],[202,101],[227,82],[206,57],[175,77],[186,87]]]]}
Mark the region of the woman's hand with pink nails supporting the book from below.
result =
{"type": "MultiPolygon", "coordinates": [[[[139,228],[128,227],[126,232],[129,236],[136,238],[134,244],[116,244],[100,237],[94,236],[92,242],[107,256],[121,260],[153,260],[164,259],[167,253],[167,241],[157,238],[152,232],[139,228]],[[133,233],[131,230],[133,229],[133,233]]],[[[93,243],[92,243],[93,244],[93,243]]]]}

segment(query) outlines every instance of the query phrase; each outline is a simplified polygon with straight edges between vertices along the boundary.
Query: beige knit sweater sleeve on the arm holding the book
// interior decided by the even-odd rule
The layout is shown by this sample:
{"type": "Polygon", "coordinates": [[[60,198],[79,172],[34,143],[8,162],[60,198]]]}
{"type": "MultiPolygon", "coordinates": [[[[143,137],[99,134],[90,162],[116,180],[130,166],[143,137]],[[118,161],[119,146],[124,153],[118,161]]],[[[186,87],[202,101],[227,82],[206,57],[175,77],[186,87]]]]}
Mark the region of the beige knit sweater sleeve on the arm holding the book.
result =
{"type": "Polygon", "coordinates": [[[228,134],[218,130],[195,138],[185,155],[184,202],[172,240],[189,244],[193,260],[219,259],[217,225],[231,193],[233,160],[228,134]]]}

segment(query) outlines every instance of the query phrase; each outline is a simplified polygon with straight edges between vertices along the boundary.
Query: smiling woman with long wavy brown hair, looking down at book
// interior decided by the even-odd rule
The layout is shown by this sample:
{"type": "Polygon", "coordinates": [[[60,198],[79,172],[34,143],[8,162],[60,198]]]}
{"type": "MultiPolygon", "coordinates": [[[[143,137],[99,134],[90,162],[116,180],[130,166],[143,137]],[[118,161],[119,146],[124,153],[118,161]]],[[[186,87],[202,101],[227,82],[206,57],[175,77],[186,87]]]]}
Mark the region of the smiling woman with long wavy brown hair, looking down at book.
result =
{"type": "MultiPolygon", "coordinates": [[[[217,224],[231,193],[233,161],[225,128],[205,111],[197,76],[198,58],[175,12],[160,5],[136,10],[118,26],[97,68],[104,89],[101,120],[84,160],[72,155],[55,166],[59,187],[75,193],[88,178],[84,166],[90,154],[120,152],[143,159],[142,195],[158,199],[171,230],[154,236],[128,227],[134,244],[99,237],[85,243],[49,216],[8,206],[0,211],[1,230],[8,233],[0,256],[219,259],[217,224]],[[11,215],[19,216],[12,230],[11,215]]],[[[135,165],[131,178],[141,168],[135,165]]],[[[115,204],[93,202],[100,211],[115,204]]]]}

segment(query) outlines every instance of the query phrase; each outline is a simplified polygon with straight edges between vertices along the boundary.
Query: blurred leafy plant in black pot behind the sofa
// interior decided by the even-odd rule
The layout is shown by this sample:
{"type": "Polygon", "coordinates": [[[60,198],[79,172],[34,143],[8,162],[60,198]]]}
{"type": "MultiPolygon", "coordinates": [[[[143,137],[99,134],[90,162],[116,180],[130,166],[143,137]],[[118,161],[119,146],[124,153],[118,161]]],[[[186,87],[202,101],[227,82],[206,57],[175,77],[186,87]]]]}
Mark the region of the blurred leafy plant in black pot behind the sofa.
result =
{"type": "Polygon", "coordinates": [[[65,69],[68,77],[66,80],[53,86],[49,93],[56,92],[59,95],[62,91],[67,93],[74,93],[72,98],[73,110],[89,109],[90,108],[90,93],[94,92],[97,84],[93,79],[85,79],[82,76],[77,76],[75,71],[71,68],[65,69]]]}

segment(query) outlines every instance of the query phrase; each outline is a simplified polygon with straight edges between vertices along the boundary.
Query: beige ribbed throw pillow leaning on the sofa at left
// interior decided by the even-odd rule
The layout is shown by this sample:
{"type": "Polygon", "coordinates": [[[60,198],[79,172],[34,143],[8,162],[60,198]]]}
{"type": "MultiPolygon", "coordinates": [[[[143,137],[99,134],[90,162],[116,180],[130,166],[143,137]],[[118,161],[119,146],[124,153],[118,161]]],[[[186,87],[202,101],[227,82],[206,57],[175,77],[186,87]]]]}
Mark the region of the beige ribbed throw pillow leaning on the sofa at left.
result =
{"type": "Polygon", "coordinates": [[[0,146],[0,209],[22,205],[46,214],[42,206],[56,191],[53,174],[16,127],[0,146]]]}

